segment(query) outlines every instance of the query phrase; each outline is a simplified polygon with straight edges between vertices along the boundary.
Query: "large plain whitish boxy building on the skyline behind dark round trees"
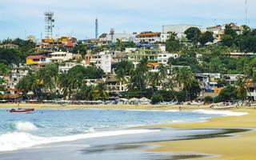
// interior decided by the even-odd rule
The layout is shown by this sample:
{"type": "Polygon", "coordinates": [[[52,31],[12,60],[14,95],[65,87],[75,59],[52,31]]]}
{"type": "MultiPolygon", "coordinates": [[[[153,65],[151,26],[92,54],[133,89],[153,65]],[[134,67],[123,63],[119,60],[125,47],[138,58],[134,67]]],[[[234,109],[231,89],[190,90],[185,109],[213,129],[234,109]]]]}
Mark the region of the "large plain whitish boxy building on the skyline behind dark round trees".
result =
{"type": "MultiPolygon", "coordinates": [[[[168,32],[174,32],[177,34],[178,38],[183,38],[186,37],[186,34],[184,32],[189,29],[190,27],[197,27],[198,29],[201,30],[202,26],[197,26],[197,25],[186,25],[186,24],[181,24],[181,25],[166,25],[162,26],[162,33],[167,34],[168,32]]],[[[167,35],[166,35],[167,36],[167,35]]]]}

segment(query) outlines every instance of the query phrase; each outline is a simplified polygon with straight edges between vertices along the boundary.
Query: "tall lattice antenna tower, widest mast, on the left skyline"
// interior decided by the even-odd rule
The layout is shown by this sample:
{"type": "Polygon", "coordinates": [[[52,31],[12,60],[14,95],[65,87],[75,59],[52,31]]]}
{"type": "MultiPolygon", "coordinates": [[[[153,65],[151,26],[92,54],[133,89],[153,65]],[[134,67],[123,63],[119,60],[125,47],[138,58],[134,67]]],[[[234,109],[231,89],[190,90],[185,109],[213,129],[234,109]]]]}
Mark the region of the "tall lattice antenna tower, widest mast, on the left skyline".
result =
{"type": "Polygon", "coordinates": [[[54,13],[53,12],[45,12],[45,32],[46,38],[53,38],[53,28],[54,28],[54,13]]]}

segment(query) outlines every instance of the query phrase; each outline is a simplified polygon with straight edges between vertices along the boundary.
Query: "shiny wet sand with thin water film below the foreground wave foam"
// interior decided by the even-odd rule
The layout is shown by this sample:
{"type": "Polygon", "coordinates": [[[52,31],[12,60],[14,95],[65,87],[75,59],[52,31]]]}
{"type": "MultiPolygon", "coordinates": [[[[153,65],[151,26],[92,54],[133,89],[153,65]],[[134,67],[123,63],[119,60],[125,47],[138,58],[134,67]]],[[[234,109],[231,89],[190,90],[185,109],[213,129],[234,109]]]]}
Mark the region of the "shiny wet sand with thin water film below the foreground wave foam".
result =
{"type": "Polygon", "coordinates": [[[29,149],[0,153],[0,160],[51,160],[51,159],[94,159],[94,160],[170,160],[190,158],[212,158],[214,154],[200,154],[191,151],[183,153],[158,152],[158,146],[150,142],[180,141],[186,139],[226,137],[231,133],[247,130],[158,130],[147,134],[125,134],[100,138],[86,138],[72,142],[58,142],[34,146],[29,149]],[[149,145],[150,144],[150,145],[149,145]],[[152,151],[146,151],[152,150],[152,151]]]}

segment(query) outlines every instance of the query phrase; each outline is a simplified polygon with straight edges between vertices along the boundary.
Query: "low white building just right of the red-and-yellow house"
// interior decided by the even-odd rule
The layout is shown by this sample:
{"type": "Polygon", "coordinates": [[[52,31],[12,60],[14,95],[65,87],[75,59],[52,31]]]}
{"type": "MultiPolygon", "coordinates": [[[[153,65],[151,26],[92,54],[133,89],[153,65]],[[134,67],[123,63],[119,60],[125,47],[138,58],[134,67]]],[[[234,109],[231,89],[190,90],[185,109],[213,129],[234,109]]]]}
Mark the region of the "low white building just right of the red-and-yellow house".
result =
{"type": "Polygon", "coordinates": [[[54,52],[49,54],[50,62],[65,62],[70,59],[73,59],[73,54],[69,52],[54,52]]]}

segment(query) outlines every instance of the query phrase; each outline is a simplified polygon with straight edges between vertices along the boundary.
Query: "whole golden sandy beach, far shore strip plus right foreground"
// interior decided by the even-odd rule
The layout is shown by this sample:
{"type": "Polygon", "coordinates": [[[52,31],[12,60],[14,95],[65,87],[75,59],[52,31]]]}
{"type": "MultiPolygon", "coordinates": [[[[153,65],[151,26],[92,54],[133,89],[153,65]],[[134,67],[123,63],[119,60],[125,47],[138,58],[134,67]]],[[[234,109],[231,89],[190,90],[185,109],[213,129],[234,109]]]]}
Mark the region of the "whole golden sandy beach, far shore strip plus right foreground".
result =
{"type": "MultiPolygon", "coordinates": [[[[10,109],[17,107],[17,104],[0,104],[0,108],[10,109]]],[[[19,107],[35,109],[122,109],[122,110],[178,110],[179,106],[60,106],[46,104],[20,104],[19,107]]],[[[209,106],[182,106],[182,110],[207,109],[209,106]]],[[[150,145],[158,146],[150,151],[172,152],[172,153],[196,153],[213,154],[214,158],[209,159],[255,159],[256,152],[256,110],[249,107],[229,109],[231,111],[246,112],[248,114],[235,117],[211,118],[207,122],[173,123],[150,126],[172,127],[178,129],[252,129],[250,132],[234,134],[230,137],[206,138],[195,140],[152,142],[150,145]]],[[[205,158],[202,158],[205,159],[205,158]]]]}

